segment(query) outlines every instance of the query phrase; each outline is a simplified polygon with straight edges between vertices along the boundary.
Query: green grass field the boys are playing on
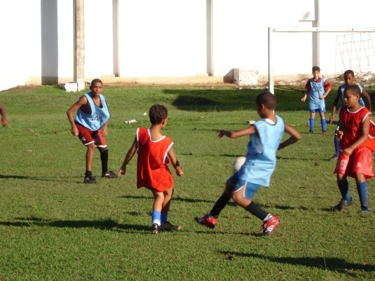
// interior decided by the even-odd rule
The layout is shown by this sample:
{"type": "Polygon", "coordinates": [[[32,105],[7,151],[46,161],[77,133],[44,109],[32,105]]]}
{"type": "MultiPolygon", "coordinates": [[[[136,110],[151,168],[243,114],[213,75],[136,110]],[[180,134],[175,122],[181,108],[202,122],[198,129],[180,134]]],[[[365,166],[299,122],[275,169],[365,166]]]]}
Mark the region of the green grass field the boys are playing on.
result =
{"type": "MultiPolygon", "coordinates": [[[[280,227],[258,237],[261,221],[230,203],[214,230],[194,217],[211,210],[245,155],[247,137],[218,139],[216,129],[237,130],[257,120],[261,90],[230,87],[104,86],[111,110],[109,167],[121,166],[135,130],[149,126],[149,107],[169,109],[165,135],[184,167],[175,177],[169,219],[178,233],[151,235],[153,198],[135,187],[135,159],[120,179],[83,184],[86,149],[70,133],[67,109],[82,93],[54,86],[0,92],[9,125],[0,128],[0,280],[374,280],[375,217],[355,204],[332,212],[340,195],[333,174],[334,125],[308,135],[308,104],[296,88],[275,88],[277,114],[301,132],[279,151],[271,187],[254,201],[280,215],[280,227]],[[125,124],[135,119],[137,123],[125,124]]],[[[336,89],[327,98],[327,118],[336,89]]],[[[286,136],[285,136],[286,137],[286,136]]],[[[369,203],[375,205],[374,179],[369,203]]]]}

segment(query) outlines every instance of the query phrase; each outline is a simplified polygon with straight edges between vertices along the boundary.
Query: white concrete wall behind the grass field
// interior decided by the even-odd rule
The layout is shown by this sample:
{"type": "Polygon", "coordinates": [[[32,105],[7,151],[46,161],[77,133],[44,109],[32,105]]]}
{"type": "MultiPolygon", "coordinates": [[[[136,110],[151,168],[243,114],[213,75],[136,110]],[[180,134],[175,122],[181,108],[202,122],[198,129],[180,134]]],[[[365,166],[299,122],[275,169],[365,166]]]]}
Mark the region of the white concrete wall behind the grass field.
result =
{"type": "MultiPolygon", "coordinates": [[[[372,0],[86,0],[85,75],[177,80],[242,67],[266,77],[268,27],[315,27],[318,2],[320,27],[375,27],[372,0]]],[[[4,0],[1,10],[0,90],[73,80],[74,0],[4,0]]],[[[336,71],[337,35],[319,35],[327,76],[336,71]]],[[[275,77],[310,75],[316,36],[273,34],[275,77]]]]}

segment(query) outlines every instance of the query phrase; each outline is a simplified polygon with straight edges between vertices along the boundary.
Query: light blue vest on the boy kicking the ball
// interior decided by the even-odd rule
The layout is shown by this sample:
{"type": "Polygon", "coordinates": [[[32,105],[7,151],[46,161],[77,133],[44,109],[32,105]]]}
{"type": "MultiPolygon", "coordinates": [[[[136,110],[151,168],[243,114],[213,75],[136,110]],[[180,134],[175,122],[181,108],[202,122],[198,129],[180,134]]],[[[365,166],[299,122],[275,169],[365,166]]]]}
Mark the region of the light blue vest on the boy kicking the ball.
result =
{"type": "Polygon", "coordinates": [[[285,130],[282,118],[277,115],[275,117],[276,123],[269,119],[261,119],[254,123],[257,132],[250,135],[246,161],[238,171],[238,179],[269,186],[276,167],[276,151],[285,130]]]}

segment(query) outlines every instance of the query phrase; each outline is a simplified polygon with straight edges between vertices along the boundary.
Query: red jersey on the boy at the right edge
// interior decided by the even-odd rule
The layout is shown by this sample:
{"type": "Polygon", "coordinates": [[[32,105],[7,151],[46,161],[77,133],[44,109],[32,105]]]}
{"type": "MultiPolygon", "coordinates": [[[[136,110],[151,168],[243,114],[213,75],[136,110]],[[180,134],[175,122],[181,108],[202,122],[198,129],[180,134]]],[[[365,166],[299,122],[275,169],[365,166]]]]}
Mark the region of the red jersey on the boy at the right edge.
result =
{"type": "MultiPolygon", "coordinates": [[[[348,107],[343,106],[339,111],[339,120],[340,120],[340,130],[343,131],[343,137],[340,141],[340,149],[345,149],[355,142],[361,134],[360,126],[368,115],[371,115],[371,112],[366,107],[361,107],[355,112],[348,110],[348,107]]],[[[369,139],[367,142],[361,144],[358,148],[362,146],[369,146],[369,139]]]]}

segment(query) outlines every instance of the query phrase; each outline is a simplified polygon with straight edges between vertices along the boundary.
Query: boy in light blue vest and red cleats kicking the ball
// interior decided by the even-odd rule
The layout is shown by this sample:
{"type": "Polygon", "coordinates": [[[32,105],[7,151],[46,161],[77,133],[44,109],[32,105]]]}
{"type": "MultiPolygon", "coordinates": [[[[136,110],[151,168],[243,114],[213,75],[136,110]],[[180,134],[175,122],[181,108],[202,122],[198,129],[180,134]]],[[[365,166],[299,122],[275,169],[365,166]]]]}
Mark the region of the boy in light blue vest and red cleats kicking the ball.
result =
{"type": "Polygon", "coordinates": [[[210,213],[204,217],[195,218],[198,224],[214,228],[217,224],[217,217],[231,198],[237,205],[261,219],[263,229],[259,235],[270,235],[280,224],[277,216],[262,210],[252,198],[260,186],[269,186],[276,166],[276,151],[299,141],[301,135],[285,124],[280,116],[275,115],[276,100],[271,92],[262,92],[255,102],[261,120],[238,131],[217,130],[219,138],[226,136],[236,139],[250,136],[250,142],[247,144],[245,163],[226,181],[224,193],[214,204],[210,213]],[[285,142],[281,142],[284,132],[287,132],[290,137],[285,142]]]}

